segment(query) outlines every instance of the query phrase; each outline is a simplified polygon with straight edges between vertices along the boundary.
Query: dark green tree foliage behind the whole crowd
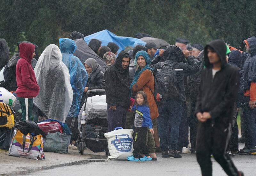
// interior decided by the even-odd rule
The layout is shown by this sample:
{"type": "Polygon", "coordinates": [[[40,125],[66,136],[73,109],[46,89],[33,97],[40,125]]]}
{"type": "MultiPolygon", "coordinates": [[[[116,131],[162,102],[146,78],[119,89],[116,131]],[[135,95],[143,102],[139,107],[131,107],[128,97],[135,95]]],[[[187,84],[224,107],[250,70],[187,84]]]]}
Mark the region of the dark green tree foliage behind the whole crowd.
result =
{"type": "Polygon", "coordinates": [[[0,38],[12,52],[23,40],[42,52],[72,31],[86,36],[108,29],[131,37],[140,32],[170,44],[176,37],[201,44],[223,39],[238,46],[256,30],[251,0],[2,0],[0,6],[0,38]]]}

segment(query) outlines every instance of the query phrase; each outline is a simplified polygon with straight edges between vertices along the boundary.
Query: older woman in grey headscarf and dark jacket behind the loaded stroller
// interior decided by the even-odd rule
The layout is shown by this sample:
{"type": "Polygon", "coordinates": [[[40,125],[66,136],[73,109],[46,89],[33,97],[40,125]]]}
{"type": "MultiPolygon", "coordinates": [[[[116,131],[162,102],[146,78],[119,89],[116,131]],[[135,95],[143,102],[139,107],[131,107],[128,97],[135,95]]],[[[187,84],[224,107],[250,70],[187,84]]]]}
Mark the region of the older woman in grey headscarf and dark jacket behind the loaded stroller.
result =
{"type": "MultiPolygon", "coordinates": [[[[84,62],[85,70],[88,73],[88,81],[84,88],[84,94],[81,100],[80,109],[82,108],[85,100],[85,94],[88,90],[92,89],[105,89],[104,73],[101,72],[101,66],[98,65],[95,59],[89,58],[84,62]]],[[[89,96],[101,95],[99,92],[91,93],[89,96]]]]}

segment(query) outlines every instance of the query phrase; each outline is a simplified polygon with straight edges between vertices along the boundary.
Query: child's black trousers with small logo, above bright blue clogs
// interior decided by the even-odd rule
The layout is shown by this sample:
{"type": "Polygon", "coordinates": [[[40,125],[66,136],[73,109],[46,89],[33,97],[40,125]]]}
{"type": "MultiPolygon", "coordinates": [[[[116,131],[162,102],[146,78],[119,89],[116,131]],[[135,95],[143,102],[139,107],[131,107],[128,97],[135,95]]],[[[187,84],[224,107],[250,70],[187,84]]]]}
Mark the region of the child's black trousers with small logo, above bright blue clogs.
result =
{"type": "Polygon", "coordinates": [[[140,158],[141,155],[149,156],[147,146],[148,127],[135,128],[133,133],[133,156],[140,158]]]}

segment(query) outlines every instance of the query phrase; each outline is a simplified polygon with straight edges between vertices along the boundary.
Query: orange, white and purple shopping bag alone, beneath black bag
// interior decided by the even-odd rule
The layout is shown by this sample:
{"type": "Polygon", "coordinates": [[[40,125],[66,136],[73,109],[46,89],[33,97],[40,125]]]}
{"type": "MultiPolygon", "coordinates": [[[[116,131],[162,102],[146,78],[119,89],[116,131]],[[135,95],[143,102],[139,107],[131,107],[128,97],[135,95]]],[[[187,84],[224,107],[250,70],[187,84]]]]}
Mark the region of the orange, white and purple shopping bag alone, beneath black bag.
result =
{"type": "Polygon", "coordinates": [[[44,158],[43,147],[44,141],[41,134],[23,134],[18,129],[12,139],[9,155],[39,160],[44,158]]]}

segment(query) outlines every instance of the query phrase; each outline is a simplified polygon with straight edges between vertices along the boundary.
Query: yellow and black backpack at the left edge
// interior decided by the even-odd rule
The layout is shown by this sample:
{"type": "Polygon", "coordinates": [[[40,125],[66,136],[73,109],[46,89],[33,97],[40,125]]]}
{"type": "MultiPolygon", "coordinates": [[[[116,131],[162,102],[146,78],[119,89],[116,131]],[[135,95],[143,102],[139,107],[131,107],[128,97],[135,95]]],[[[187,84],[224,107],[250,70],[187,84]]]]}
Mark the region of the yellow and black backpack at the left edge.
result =
{"type": "Polygon", "coordinates": [[[6,104],[0,102],[0,129],[8,130],[14,126],[14,115],[12,109],[6,104]]]}

